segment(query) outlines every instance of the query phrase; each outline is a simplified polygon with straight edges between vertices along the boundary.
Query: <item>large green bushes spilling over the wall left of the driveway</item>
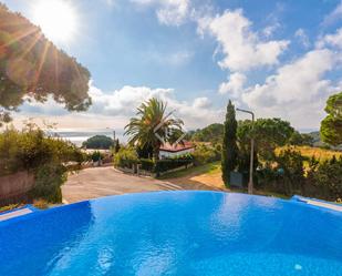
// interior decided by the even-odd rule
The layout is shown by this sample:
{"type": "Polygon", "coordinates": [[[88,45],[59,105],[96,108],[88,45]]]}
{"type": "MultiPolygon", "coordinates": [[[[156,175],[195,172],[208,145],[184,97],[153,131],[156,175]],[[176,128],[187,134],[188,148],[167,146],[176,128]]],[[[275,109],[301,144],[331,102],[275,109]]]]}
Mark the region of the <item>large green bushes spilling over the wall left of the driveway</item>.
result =
{"type": "Polygon", "coordinates": [[[63,164],[82,160],[83,155],[75,145],[46,137],[42,130],[32,124],[22,131],[7,129],[0,134],[0,175],[19,171],[34,173],[33,197],[60,202],[60,186],[66,180],[63,164]]]}

